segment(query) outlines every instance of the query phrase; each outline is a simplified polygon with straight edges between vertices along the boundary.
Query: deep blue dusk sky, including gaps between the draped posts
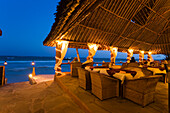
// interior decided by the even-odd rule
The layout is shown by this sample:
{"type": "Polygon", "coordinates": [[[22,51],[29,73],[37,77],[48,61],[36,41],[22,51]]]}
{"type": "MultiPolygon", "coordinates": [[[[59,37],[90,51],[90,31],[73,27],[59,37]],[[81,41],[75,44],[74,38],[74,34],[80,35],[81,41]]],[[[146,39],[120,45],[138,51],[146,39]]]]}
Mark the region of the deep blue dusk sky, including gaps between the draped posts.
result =
{"type": "MultiPolygon", "coordinates": [[[[59,0],[1,0],[0,56],[55,56],[55,49],[43,46],[43,41],[54,23],[58,2],[59,0]]],[[[80,57],[87,55],[87,50],[80,50],[80,57]]],[[[75,49],[68,49],[66,56],[76,56],[75,49]]],[[[95,55],[103,56],[109,58],[110,52],[99,51],[95,55]]],[[[126,56],[126,53],[118,54],[120,58],[126,56]]]]}

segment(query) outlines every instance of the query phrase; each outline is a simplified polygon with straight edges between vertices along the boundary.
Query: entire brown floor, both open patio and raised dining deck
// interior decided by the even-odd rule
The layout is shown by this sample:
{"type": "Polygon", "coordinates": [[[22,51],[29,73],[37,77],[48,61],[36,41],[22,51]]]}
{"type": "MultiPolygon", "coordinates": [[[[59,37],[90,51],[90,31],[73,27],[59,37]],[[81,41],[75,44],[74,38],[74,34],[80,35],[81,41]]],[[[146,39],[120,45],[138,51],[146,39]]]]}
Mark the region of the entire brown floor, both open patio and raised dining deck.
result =
{"type": "MultiPolygon", "coordinates": [[[[44,80],[44,77],[38,79],[44,80]]],[[[90,91],[80,88],[78,78],[70,75],[60,76],[58,80],[92,113],[167,113],[168,110],[168,84],[162,82],[157,84],[155,102],[143,108],[123,98],[100,101],[90,91]]],[[[0,95],[0,113],[83,113],[58,82],[52,80],[35,85],[8,84],[0,87],[0,95]]]]}

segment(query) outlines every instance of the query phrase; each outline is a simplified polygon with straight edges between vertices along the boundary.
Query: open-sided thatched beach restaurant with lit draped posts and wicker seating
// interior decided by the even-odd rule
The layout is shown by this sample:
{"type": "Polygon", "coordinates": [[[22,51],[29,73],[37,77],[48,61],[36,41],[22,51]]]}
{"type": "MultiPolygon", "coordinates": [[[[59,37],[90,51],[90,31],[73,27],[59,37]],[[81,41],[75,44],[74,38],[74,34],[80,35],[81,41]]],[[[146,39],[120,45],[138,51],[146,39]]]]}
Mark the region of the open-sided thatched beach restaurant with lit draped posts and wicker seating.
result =
{"type": "Polygon", "coordinates": [[[61,64],[67,48],[76,48],[79,62],[78,49],[88,49],[85,63],[93,62],[97,50],[107,50],[111,52],[111,62],[104,71],[100,69],[97,73],[86,66],[84,69],[81,66],[75,68],[80,87],[90,89],[100,100],[121,96],[143,107],[154,102],[158,80],[163,77],[167,82],[169,77],[170,0],[61,0],[55,16],[55,23],[43,42],[44,46],[56,47],[55,76],[62,75],[61,64]],[[127,53],[127,62],[119,70],[114,68],[117,52],[127,53]],[[133,54],[139,54],[139,63],[131,63],[133,54]],[[143,63],[145,54],[148,56],[147,65],[143,63]],[[164,54],[167,61],[157,65],[152,54],[164,54]],[[160,65],[160,70],[166,72],[165,65],[166,74],[155,74],[153,68],[155,70],[160,65]],[[114,70],[114,78],[104,76],[108,68],[114,70]],[[145,75],[138,74],[139,68],[145,75]],[[131,77],[127,73],[135,73],[133,78],[138,77],[126,80],[131,77]],[[122,74],[126,75],[123,76],[125,80],[120,81],[122,74]],[[142,88],[138,87],[139,84],[142,88]],[[109,89],[109,85],[115,87],[109,89]]]}

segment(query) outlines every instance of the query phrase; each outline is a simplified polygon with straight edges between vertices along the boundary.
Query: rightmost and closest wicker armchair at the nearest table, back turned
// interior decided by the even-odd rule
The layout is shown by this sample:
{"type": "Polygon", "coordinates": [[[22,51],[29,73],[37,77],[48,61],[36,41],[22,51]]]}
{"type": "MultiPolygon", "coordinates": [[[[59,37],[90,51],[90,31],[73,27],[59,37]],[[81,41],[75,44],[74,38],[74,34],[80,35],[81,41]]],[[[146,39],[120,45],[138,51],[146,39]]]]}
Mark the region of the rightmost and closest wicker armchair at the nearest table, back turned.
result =
{"type": "Polygon", "coordinates": [[[154,101],[157,82],[161,76],[149,76],[126,80],[123,85],[123,97],[143,107],[154,101]]]}

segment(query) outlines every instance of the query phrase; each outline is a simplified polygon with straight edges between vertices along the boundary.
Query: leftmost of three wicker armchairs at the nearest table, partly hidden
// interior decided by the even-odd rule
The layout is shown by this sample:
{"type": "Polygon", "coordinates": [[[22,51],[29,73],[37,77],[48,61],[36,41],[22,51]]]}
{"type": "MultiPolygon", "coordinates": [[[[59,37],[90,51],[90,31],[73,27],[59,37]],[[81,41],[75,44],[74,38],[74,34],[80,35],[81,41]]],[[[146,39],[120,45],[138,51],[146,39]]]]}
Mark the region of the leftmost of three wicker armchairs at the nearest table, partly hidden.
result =
{"type": "Polygon", "coordinates": [[[91,89],[91,78],[90,72],[78,67],[78,77],[79,77],[79,86],[85,90],[91,89]]]}

